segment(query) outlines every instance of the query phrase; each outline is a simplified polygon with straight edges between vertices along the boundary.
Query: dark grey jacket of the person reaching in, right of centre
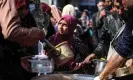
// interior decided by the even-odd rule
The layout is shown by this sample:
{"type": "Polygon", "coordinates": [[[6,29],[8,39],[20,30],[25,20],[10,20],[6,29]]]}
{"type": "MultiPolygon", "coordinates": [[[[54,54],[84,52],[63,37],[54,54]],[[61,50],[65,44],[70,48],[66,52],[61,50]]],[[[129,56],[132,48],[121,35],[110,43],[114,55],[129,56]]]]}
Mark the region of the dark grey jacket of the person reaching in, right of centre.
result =
{"type": "Polygon", "coordinates": [[[123,25],[123,21],[118,16],[108,15],[101,29],[100,42],[94,53],[98,57],[106,57],[109,49],[110,41],[115,36],[116,32],[123,25]]]}

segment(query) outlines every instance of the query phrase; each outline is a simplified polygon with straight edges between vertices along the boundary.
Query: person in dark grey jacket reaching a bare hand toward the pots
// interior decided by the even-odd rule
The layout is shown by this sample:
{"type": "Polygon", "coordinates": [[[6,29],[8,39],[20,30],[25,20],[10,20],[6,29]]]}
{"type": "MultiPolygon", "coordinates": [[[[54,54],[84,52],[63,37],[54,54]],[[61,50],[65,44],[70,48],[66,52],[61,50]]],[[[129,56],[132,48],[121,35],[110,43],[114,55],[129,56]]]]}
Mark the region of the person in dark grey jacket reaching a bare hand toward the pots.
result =
{"type": "MultiPolygon", "coordinates": [[[[99,33],[101,36],[99,36],[100,40],[98,46],[95,48],[93,53],[84,60],[83,63],[90,63],[91,59],[95,57],[106,58],[110,41],[123,24],[124,22],[120,18],[119,9],[114,11],[113,14],[107,15],[103,26],[101,27],[101,32],[99,33]]],[[[116,46],[116,42],[113,43],[113,46],[116,46]]]]}

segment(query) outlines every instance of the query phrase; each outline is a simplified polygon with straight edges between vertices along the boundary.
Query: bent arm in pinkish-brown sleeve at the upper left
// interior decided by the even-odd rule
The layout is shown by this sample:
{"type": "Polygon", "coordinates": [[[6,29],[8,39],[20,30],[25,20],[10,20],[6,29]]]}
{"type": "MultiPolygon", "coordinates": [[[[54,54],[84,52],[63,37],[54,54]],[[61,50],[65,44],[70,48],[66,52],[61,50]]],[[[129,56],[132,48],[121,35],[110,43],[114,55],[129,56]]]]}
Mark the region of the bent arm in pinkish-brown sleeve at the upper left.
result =
{"type": "Polygon", "coordinates": [[[20,27],[15,0],[2,0],[0,2],[0,24],[5,39],[23,45],[33,45],[45,36],[44,32],[37,28],[28,29],[20,27]]]}

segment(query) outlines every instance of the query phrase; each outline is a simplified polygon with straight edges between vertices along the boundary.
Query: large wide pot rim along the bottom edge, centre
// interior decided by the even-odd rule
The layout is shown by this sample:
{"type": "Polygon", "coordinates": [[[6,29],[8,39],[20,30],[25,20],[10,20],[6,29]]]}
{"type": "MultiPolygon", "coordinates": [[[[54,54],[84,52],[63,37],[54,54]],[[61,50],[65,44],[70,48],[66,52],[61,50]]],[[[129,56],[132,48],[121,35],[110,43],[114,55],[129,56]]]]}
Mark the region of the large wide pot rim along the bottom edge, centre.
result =
{"type": "Polygon", "coordinates": [[[37,76],[31,80],[94,80],[94,76],[87,74],[50,74],[37,76]]]}

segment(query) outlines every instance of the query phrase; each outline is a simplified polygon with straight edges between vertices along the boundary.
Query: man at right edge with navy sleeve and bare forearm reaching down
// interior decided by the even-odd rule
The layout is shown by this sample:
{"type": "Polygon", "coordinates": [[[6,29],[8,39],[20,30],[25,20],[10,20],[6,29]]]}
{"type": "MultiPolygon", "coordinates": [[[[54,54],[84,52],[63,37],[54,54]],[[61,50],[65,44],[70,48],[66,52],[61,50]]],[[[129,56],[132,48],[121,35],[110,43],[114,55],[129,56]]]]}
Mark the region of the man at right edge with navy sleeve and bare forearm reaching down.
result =
{"type": "Polygon", "coordinates": [[[133,50],[133,0],[122,0],[128,10],[128,20],[121,39],[118,41],[116,52],[108,61],[104,71],[95,80],[104,80],[113,73],[124,60],[132,55],[133,50]]]}

